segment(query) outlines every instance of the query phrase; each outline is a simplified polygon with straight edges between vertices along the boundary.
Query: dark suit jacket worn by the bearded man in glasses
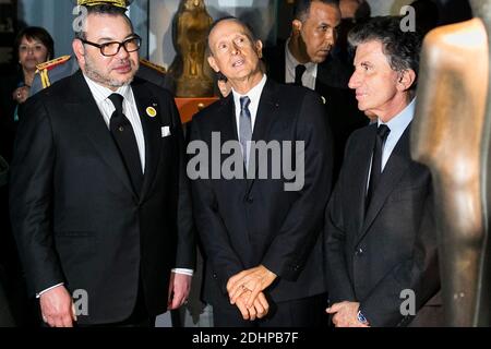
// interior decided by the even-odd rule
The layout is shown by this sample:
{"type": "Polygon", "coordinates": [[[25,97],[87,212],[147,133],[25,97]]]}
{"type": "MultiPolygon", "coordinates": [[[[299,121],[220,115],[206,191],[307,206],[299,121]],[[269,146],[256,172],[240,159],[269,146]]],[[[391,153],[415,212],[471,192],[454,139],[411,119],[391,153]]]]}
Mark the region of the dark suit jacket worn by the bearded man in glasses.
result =
{"type": "Polygon", "coordinates": [[[80,323],[128,317],[140,276],[151,315],[163,313],[170,269],[193,268],[178,111],[152,83],[135,79],[132,89],[145,136],[141,193],[80,71],[29,98],[15,143],[11,218],[31,292],[58,282],[86,290],[80,323]],[[171,134],[163,137],[161,127],[171,134]]]}

